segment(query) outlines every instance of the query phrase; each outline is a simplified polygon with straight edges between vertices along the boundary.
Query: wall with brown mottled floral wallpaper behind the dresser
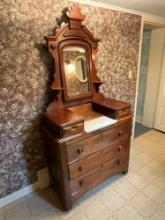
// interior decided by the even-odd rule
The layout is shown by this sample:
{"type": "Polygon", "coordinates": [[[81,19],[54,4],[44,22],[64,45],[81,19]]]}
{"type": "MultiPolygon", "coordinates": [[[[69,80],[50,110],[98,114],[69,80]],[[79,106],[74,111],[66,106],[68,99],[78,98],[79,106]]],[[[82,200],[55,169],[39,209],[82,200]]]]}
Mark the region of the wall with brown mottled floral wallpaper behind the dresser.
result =
{"type": "MultiPolygon", "coordinates": [[[[0,1],[0,197],[36,181],[46,166],[40,114],[48,101],[50,35],[66,0],[0,1]]],[[[141,17],[83,6],[85,24],[100,38],[101,87],[108,97],[134,103],[141,17]],[[128,70],[133,78],[127,78],[128,70]]]]}

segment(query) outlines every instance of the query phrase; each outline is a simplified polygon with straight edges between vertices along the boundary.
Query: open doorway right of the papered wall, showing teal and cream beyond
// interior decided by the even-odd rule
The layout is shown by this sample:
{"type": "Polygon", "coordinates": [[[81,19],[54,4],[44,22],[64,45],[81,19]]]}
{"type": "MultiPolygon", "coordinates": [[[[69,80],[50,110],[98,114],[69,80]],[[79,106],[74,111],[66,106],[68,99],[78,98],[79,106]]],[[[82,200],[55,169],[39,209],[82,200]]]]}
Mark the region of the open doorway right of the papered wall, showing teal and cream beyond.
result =
{"type": "Polygon", "coordinates": [[[134,137],[155,127],[165,29],[144,24],[134,137]]]}

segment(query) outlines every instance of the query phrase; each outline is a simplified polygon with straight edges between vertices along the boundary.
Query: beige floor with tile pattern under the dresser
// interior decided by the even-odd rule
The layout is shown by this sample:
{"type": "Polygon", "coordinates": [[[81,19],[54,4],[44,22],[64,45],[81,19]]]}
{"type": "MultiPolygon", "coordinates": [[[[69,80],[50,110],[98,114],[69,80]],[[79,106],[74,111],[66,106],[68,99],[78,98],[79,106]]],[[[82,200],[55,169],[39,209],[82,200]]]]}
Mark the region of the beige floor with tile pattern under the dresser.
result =
{"type": "Polygon", "coordinates": [[[164,220],[165,134],[151,130],[132,142],[127,175],[116,175],[62,212],[51,189],[0,209],[0,220],[164,220]]]}

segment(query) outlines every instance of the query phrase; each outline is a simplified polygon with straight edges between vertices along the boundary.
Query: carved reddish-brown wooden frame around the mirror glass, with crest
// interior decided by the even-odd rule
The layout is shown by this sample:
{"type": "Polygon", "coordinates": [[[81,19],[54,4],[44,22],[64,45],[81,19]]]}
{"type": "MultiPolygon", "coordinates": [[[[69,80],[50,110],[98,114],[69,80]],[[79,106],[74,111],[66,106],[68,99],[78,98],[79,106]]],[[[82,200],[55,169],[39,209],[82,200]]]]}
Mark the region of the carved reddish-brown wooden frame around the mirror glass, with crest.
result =
{"type": "Polygon", "coordinates": [[[54,64],[55,73],[54,80],[51,84],[54,100],[49,104],[48,108],[61,108],[89,102],[95,97],[100,97],[98,92],[100,79],[97,77],[95,68],[95,57],[98,50],[98,39],[95,39],[89,30],[81,23],[85,19],[85,15],[81,13],[80,6],[75,5],[72,11],[66,13],[69,22],[62,24],[56,31],[55,35],[47,36],[48,49],[51,53],[54,64]],[[88,80],[89,92],[75,96],[68,96],[66,88],[66,79],[63,65],[63,51],[67,46],[79,46],[86,50],[86,60],[88,63],[88,80]]]}

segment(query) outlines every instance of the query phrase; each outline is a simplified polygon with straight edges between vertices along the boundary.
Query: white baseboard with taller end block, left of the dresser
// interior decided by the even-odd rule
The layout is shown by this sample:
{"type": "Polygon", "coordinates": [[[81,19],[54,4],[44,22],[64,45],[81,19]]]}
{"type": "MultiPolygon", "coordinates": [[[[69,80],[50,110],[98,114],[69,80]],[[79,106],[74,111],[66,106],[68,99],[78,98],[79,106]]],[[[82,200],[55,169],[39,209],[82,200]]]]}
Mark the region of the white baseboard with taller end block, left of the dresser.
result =
{"type": "Polygon", "coordinates": [[[37,177],[38,181],[36,183],[26,186],[23,189],[20,189],[0,199],[0,208],[36,191],[37,189],[45,189],[50,185],[48,168],[39,170],[37,172],[37,177]]]}

